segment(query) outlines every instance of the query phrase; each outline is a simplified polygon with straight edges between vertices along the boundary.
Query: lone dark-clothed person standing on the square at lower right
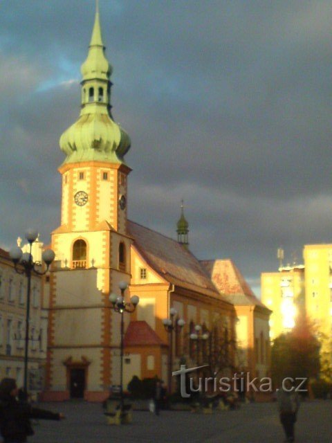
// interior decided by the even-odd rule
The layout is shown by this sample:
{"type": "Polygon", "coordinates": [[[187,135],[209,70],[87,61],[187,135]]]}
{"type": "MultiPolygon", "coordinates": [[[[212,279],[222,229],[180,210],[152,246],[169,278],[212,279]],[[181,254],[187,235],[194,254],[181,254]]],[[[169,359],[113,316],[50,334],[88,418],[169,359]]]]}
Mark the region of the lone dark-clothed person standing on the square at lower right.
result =
{"type": "Polygon", "coordinates": [[[294,442],[294,427],[299,410],[299,396],[295,391],[291,379],[284,379],[282,389],[277,392],[277,401],[280,413],[280,422],[286,434],[285,442],[294,442]]]}

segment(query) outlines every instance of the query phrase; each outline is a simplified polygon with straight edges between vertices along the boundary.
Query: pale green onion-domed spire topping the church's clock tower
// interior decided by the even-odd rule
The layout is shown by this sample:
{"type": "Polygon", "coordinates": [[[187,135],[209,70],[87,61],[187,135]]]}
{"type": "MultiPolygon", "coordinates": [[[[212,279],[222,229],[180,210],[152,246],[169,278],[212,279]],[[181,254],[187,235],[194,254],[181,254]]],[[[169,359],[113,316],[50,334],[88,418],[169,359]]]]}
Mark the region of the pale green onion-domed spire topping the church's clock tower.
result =
{"type": "Polygon", "coordinates": [[[106,161],[124,163],[130,138],[111,116],[112,67],[104,54],[98,1],[89,53],[82,64],[80,118],[60,138],[64,163],[106,161]]]}

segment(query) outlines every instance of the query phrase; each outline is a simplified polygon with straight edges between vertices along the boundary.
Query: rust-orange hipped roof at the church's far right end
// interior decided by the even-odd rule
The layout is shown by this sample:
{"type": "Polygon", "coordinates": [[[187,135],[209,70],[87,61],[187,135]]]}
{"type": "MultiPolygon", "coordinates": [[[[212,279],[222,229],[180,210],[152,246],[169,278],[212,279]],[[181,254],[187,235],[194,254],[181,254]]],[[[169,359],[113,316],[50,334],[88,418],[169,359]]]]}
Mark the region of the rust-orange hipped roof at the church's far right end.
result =
{"type": "Polygon", "coordinates": [[[234,305],[260,306],[268,309],[253,293],[237,266],[230,259],[203,260],[216,288],[234,305]]]}

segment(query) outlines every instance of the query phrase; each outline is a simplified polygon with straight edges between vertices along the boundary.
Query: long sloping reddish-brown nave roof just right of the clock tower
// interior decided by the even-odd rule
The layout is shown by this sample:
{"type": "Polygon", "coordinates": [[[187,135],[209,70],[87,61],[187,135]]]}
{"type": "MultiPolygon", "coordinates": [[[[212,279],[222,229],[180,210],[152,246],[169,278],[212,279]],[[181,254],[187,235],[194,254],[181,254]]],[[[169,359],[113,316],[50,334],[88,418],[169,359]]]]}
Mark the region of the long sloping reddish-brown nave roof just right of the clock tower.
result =
{"type": "MultiPolygon", "coordinates": [[[[199,260],[176,240],[128,221],[134,246],[166,281],[209,296],[222,298],[199,260]]],[[[226,300],[225,300],[226,301],[226,300]]]]}

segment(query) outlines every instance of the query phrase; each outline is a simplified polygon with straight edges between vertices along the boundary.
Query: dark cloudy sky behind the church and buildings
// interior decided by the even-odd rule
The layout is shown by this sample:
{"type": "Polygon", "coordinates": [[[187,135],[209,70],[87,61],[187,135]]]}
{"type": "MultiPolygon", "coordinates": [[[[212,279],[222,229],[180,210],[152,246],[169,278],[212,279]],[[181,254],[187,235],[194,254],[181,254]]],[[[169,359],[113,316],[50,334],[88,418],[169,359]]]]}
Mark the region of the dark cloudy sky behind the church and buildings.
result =
{"type": "MultiPolygon", "coordinates": [[[[0,246],[59,226],[93,0],[0,0],[0,246]]],[[[129,218],[261,272],[332,243],[332,2],[100,0],[129,218]]]]}

